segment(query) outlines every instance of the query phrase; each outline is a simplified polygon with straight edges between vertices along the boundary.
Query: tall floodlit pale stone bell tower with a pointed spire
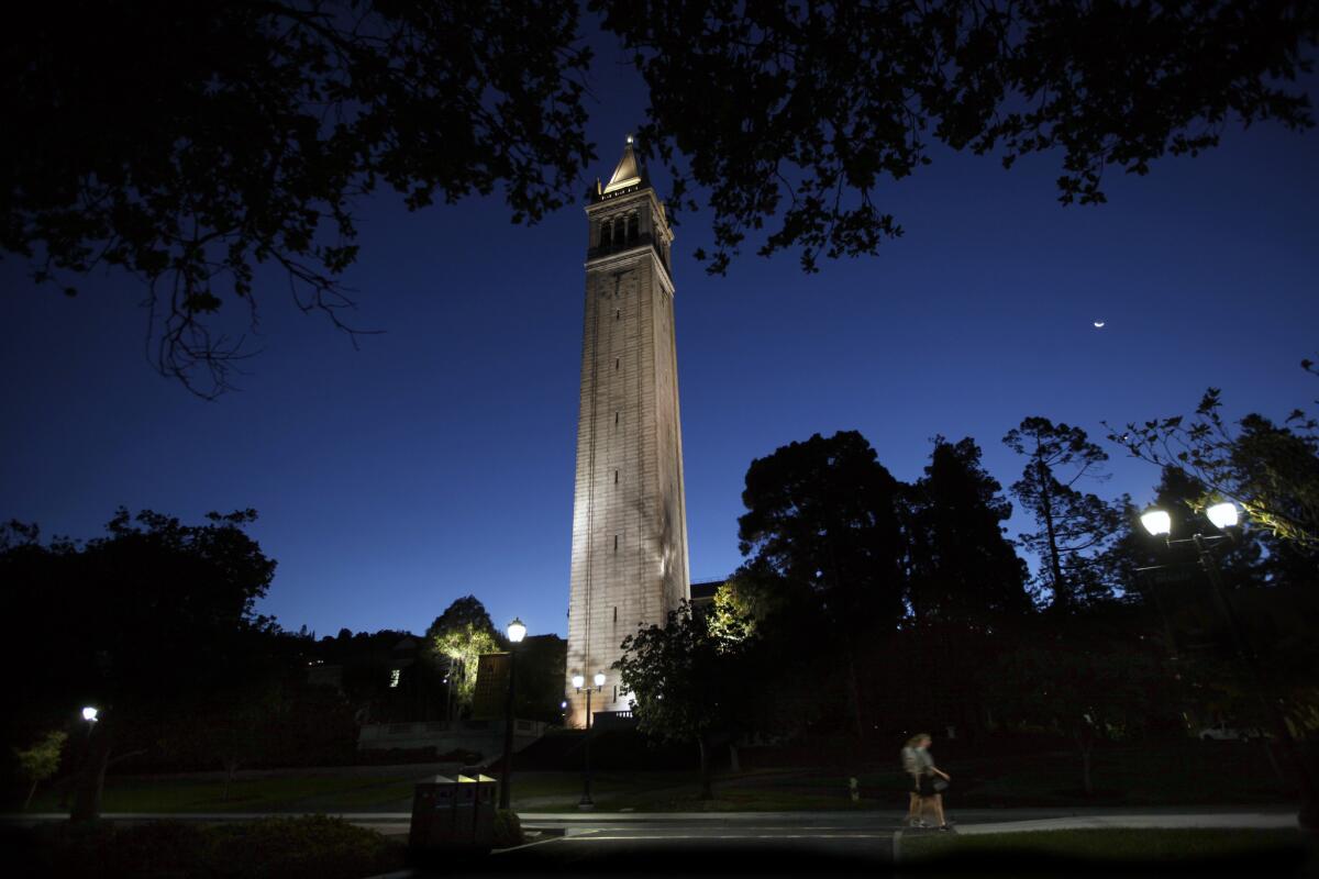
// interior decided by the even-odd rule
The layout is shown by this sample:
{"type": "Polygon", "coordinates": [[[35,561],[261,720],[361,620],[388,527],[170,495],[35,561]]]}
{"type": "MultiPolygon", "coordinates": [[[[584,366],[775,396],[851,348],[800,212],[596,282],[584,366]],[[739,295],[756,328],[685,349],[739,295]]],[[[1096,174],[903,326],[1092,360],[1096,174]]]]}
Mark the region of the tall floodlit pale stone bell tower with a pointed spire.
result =
{"type": "Polygon", "coordinates": [[[570,726],[586,726],[572,676],[603,671],[592,712],[627,710],[619,644],[690,596],[678,419],[673,232],[628,137],[590,192],[586,320],[568,598],[570,726]]]}

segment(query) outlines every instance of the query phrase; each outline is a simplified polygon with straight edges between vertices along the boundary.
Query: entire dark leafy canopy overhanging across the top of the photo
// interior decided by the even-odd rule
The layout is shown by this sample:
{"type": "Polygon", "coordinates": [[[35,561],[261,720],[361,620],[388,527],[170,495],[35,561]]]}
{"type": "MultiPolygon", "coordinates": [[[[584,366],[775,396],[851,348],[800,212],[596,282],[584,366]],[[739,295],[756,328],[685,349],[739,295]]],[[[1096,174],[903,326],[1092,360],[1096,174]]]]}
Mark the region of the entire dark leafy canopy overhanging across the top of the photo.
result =
{"type": "MultiPolygon", "coordinates": [[[[1306,0],[586,5],[646,82],[640,145],[670,207],[707,203],[714,273],[748,236],[807,270],[874,253],[902,233],[881,186],[934,144],[1059,152],[1060,200],[1097,203],[1108,167],[1145,174],[1229,124],[1312,125],[1306,0]]],[[[514,221],[574,198],[595,158],[579,22],[578,0],[24,4],[0,51],[21,133],[0,146],[0,252],[69,294],[103,266],[141,278],[150,360],[212,397],[262,264],[355,331],[339,278],[363,196],[500,190],[514,221]]]]}

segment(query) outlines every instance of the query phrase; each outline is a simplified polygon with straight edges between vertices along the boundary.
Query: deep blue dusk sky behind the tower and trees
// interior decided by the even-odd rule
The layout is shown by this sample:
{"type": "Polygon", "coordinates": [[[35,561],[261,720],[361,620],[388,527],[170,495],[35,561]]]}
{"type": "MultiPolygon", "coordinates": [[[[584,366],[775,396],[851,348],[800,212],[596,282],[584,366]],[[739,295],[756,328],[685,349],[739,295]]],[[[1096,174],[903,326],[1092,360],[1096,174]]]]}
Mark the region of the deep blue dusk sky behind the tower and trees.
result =
{"type": "MultiPolygon", "coordinates": [[[[644,107],[613,62],[594,83],[592,178],[644,107]]],[[[1233,415],[1319,395],[1297,366],[1319,352],[1319,134],[1229,129],[1199,158],[1112,173],[1097,208],[1057,203],[1058,156],[1010,173],[934,158],[878,192],[905,237],[816,275],[747,256],[707,278],[690,253],[708,219],[682,217],[695,579],[740,561],[751,460],[814,432],[860,430],[902,480],[935,434],[971,435],[1006,486],[1021,464],[1001,438],[1026,415],[1099,439],[1101,420],[1188,411],[1211,385],[1233,415]]],[[[474,593],[499,625],[565,634],[584,215],[525,228],[497,198],[410,215],[389,195],[360,215],[356,323],[386,332],[353,351],[266,285],[264,353],[211,403],[150,372],[132,281],[70,300],[0,262],[0,515],[91,536],[117,505],[252,506],[280,563],[262,610],[286,627],[418,631],[474,593]]],[[[1109,452],[1097,490],[1148,499],[1157,472],[1109,452]]]]}

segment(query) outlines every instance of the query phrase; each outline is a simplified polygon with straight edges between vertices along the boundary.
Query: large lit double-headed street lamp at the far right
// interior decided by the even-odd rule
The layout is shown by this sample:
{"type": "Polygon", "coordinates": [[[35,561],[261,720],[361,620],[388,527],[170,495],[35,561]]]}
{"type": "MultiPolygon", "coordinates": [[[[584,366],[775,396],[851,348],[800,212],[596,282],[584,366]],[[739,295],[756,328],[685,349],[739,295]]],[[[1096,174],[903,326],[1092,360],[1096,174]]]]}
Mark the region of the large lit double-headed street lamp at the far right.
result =
{"type": "Polygon", "coordinates": [[[1213,589],[1215,601],[1219,605],[1219,610],[1227,619],[1228,629],[1232,631],[1232,642],[1236,647],[1237,655],[1245,664],[1250,673],[1250,684],[1254,688],[1256,697],[1260,700],[1260,705],[1264,708],[1265,717],[1268,718],[1270,726],[1273,726],[1273,734],[1278,743],[1282,745],[1283,752],[1287,760],[1291,763],[1291,771],[1295,775],[1297,785],[1301,788],[1301,814],[1298,816],[1302,828],[1314,832],[1319,829],[1319,809],[1316,809],[1315,803],[1315,787],[1314,779],[1310,775],[1310,766],[1306,763],[1306,758],[1301,754],[1301,749],[1297,747],[1295,739],[1291,737],[1291,727],[1287,725],[1287,720],[1282,716],[1278,709],[1278,701],[1270,698],[1268,692],[1269,687],[1264,672],[1260,669],[1258,659],[1254,651],[1250,650],[1250,644],[1246,639],[1245,630],[1241,627],[1241,621],[1237,619],[1236,611],[1232,610],[1232,602],[1228,598],[1227,586],[1223,584],[1223,572],[1219,569],[1217,559],[1213,557],[1211,548],[1223,542],[1231,542],[1233,539],[1232,528],[1237,526],[1240,515],[1237,513],[1236,505],[1231,502],[1215,503],[1204,511],[1206,518],[1220,534],[1202,534],[1196,531],[1190,538],[1182,538],[1178,540],[1173,539],[1173,517],[1167,514],[1166,510],[1150,509],[1141,514],[1141,525],[1155,538],[1163,538],[1163,542],[1171,547],[1175,543],[1191,543],[1195,546],[1195,551],[1200,559],[1200,568],[1204,569],[1206,577],[1210,580],[1210,586],[1213,589]]]}

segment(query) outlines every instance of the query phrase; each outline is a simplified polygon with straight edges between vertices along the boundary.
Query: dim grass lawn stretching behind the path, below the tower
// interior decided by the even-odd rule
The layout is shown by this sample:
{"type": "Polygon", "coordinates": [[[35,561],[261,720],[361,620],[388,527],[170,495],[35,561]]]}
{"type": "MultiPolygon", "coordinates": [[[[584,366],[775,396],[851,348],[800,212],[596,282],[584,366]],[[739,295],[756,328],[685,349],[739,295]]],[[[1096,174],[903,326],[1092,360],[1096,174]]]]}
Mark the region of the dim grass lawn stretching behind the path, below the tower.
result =
{"type": "MultiPolygon", "coordinates": [[[[951,751],[951,749],[950,749],[951,751]]],[[[1237,742],[1182,742],[1109,747],[1095,754],[1095,792],[1086,795],[1080,758],[1071,751],[1014,756],[956,752],[936,755],[952,775],[948,808],[1265,805],[1289,803],[1265,754],[1237,742]]],[[[236,780],[158,778],[106,780],[106,812],[406,812],[421,775],[343,778],[315,775],[236,780]]],[[[714,800],[699,800],[690,771],[601,771],[592,776],[598,808],[637,812],[774,812],[813,809],[901,809],[907,779],[892,764],[865,767],[861,801],[848,799],[848,776],[839,768],[761,768],[718,772],[714,800]]],[[[580,772],[517,771],[513,805],[524,812],[576,809],[580,772]]],[[[58,812],[58,793],[41,789],[33,812],[58,812]]],[[[13,810],[15,807],[11,807],[13,810]]]]}

